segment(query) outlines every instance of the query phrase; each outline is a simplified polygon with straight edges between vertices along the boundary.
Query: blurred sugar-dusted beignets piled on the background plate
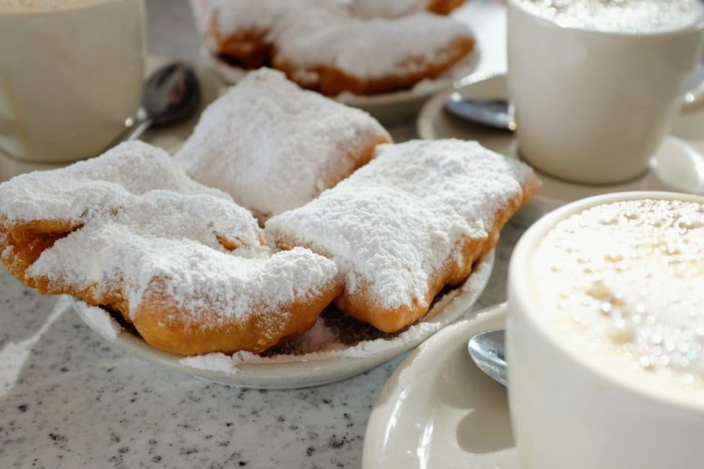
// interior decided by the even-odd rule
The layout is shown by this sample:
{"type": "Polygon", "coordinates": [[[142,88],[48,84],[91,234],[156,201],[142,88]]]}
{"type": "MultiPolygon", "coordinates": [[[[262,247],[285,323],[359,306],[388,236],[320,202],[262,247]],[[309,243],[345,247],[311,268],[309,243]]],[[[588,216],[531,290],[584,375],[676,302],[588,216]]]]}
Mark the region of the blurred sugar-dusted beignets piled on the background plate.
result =
{"type": "Polygon", "coordinates": [[[327,96],[408,89],[474,49],[467,25],[432,13],[363,19],[329,0],[216,0],[207,15],[213,53],[244,68],[272,66],[327,96]]]}

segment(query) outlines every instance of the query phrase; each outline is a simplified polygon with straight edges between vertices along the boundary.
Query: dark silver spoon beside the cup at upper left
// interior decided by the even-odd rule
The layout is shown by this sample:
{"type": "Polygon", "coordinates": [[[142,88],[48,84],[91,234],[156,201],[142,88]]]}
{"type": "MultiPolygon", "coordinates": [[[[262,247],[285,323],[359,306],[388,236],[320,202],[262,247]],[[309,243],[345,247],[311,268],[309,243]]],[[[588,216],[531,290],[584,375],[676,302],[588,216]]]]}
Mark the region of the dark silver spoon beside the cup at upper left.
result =
{"type": "Polygon", "coordinates": [[[142,107],[127,122],[128,129],[115,141],[139,139],[153,125],[172,124],[191,115],[201,101],[201,86],[194,70],[182,62],[164,65],[144,84],[142,107]]]}

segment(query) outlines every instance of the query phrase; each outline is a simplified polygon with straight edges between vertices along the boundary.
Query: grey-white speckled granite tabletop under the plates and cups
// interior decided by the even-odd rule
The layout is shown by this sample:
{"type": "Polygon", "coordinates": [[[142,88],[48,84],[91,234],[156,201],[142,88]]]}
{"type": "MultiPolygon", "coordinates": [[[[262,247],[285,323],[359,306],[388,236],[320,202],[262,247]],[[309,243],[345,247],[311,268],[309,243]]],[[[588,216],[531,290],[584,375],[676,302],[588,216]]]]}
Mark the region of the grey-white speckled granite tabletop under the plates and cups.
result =
{"type": "MultiPolygon", "coordinates": [[[[147,5],[149,50],[196,60],[186,1],[147,5]]],[[[484,70],[503,63],[496,50],[484,70]]],[[[413,124],[395,133],[412,136],[413,124]]],[[[503,230],[477,307],[503,300],[525,228],[503,230]]],[[[108,345],[65,297],[0,268],[0,468],[359,468],[370,410],[402,358],[303,390],[208,384],[108,345]]]]}

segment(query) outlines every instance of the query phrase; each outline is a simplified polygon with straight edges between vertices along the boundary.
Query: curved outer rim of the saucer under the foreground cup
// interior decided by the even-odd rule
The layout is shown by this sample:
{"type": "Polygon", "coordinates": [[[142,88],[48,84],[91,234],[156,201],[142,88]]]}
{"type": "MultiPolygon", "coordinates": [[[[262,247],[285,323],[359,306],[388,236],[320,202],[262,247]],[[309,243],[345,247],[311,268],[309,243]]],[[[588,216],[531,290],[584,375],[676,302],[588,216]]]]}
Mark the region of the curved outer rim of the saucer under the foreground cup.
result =
{"type": "MultiPolygon", "coordinates": [[[[406,392],[406,385],[404,385],[404,383],[408,381],[408,375],[413,375],[410,370],[414,368],[416,362],[427,359],[427,354],[431,353],[434,347],[439,347],[446,340],[450,340],[448,336],[453,335],[456,330],[468,328],[472,326],[473,323],[482,320],[505,321],[507,311],[508,303],[502,302],[476,311],[472,316],[456,321],[450,326],[439,330],[431,338],[423,342],[396,367],[396,370],[389,380],[386,381],[382,391],[379,393],[372,407],[369,419],[367,420],[367,428],[365,429],[362,447],[363,469],[386,469],[383,465],[384,461],[379,461],[376,457],[379,452],[383,452],[380,448],[385,445],[389,436],[386,435],[386,423],[389,421],[390,417],[388,412],[389,406],[384,406],[384,403],[398,403],[398,401],[403,400],[402,394],[406,392]],[[403,377],[404,374],[406,374],[406,378],[403,377]]],[[[470,340],[469,336],[466,338],[466,341],[468,340],[470,340]]]]}

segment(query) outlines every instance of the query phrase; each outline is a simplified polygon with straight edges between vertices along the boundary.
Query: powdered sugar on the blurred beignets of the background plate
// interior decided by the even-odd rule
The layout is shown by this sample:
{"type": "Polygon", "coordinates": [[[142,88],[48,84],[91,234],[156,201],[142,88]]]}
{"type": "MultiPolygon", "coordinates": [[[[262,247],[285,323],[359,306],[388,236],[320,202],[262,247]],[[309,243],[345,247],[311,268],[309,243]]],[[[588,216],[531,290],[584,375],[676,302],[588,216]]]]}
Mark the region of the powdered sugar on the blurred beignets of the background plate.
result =
{"type": "Polygon", "coordinates": [[[214,11],[221,37],[261,31],[285,63],[337,68],[363,79],[415,72],[419,61],[444,60],[439,53],[453,39],[472,37],[469,27],[453,18],[415,13],[362,20],[324,0],[225,1],[214,11]]]}

